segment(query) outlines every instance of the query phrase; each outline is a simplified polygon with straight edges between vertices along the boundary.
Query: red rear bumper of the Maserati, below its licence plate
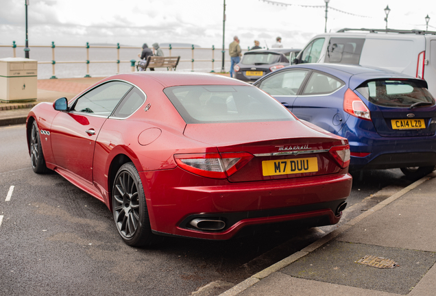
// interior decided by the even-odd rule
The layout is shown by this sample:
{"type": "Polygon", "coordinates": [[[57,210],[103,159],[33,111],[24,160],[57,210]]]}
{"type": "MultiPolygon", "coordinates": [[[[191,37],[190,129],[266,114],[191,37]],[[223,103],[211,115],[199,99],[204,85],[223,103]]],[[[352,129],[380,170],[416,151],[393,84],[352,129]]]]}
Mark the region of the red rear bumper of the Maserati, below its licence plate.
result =
{"type": "Polygon", "coordinates": [[[176,168],[140,173],[152,230],[158,234],[225,240],[247,225],[304,221],[335,224],[339,204],[350,195],[348,173],[293,180],[230,183],[176,168]],[[218,231],[196,230],[195,218],[225,221],[218,231]]]}

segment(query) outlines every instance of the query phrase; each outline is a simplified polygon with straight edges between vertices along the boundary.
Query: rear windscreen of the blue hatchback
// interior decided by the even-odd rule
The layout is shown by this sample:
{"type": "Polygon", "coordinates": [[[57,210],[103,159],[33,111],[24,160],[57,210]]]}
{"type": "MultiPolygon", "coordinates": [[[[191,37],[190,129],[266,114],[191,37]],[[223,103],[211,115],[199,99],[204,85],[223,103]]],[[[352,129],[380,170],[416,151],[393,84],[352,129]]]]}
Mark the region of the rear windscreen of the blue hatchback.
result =
{"type": "Polygon", "coordinates": [[[356,90],[368,101],[377,106],[409,108],[432,106],[435,99],[419,82],[409,79],[378,79],[365,82],[356,90]]]}

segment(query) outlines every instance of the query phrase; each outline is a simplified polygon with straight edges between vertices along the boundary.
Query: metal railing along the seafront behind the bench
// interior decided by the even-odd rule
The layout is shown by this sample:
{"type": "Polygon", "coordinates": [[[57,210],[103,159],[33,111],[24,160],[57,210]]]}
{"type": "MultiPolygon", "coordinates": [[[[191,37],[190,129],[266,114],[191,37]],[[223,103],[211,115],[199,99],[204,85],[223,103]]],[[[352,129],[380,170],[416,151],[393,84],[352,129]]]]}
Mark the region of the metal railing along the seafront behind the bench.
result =
{"type": "MultiPolygon", "coordinates": [[[[13,56],[16,58],[16,48],[17,47],[24,47],[24,45],[16,45],[15,41],[12,43],[12,45],[0,45],[0,47],[12,47],[13,49],[13,56]]],[[[135,71],[135,64],[136,60],[120,60],[120,51],[121,49],[138,49],[142,51],[142,47],[129,47],[129,46],[121,46],[119,43],[117,45],[113,46],[106,46],[106,45],[90,45],[89,42],[86,42],[86,46],[73,46],[73,45],[55,45],[55,42],[51,42],[51,45],[32,45],[29,47],[32,49],[32,47],[45,47],[45,48],[51,48],[51,61],[38,61],[38,64],[51,64],[52,65],[52,76],[50,79],[56,79],[56,64],[86,64],[86,75],[84,77],[90,77],[89,72],[89,64],[94,63],[116,63],[117,64],[117,73],[119,73],[119,65],[121,63],[130,63],[131,71],[135,71]],[[76,61],[58,61],[55,58],[55,49],[56,48],[83,48],[86,49],[86,60],[76,60],[76,61]],[[89,58],[89,49],[90,48],[100,48],[100,49],[116,49],[117,50],[117,60],[90,60],[89,58]]],[[[179,60],[180,62],[191,62],[191,71],[195,71],[195,62],[211,62],[212,69],[210,72],[215,72],[215,62],[222,62],[222,59],[219,61],[215,60],[215,46],[212,46],[210,48],[204,48],[204,47],[195,47],[195,45],[191,45],[191,49],[189,47],[160,47],[161,49],[167,49],[169,50],[169,56],[171,56],[171,51],[174,49],[183,49],[183,50],[191,50],[192,51],[192,58],[191,60],[179,60]],[[195,59],[195,51],[212,51],[210,60],[197,60],[195,59]]],[[[228,51],[228,49],[224,49],[224,51],[228,51]]],[[[246,50],[243,50],[246,51],[246,50]]],[[[222,53],[223,51],[220,51],[222,53]]],[[[224,60],[224,62],[230,62],[229,60],[224,60]]]]}

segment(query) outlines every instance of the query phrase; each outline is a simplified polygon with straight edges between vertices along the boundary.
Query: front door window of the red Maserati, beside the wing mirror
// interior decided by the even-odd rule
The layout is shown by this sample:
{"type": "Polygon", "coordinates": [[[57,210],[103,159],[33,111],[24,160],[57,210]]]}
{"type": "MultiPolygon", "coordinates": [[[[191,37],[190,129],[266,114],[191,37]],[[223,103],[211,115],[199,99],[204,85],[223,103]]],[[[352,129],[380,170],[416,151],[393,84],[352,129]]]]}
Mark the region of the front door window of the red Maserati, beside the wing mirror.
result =
{"type": "Polygon", "coordinates": [[[97,86],[82,95],[73,106],[77,112],[86,112],[95,115],[110,116],[114,108],[126,93],[132,88],[125,82],[108,82],[97,86]]]}

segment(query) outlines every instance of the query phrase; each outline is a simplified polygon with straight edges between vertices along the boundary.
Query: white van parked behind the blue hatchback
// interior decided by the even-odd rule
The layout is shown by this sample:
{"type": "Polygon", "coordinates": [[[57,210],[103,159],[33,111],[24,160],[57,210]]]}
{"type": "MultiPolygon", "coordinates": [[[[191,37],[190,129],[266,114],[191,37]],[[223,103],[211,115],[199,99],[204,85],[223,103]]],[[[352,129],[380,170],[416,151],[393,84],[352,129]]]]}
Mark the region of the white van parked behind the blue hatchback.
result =
{"type": "Polygon", "coordinates": [[[313,37],[291,64],[361,64],[425,79],[436,97],[436,32],[341,29],[313,37]]]}

